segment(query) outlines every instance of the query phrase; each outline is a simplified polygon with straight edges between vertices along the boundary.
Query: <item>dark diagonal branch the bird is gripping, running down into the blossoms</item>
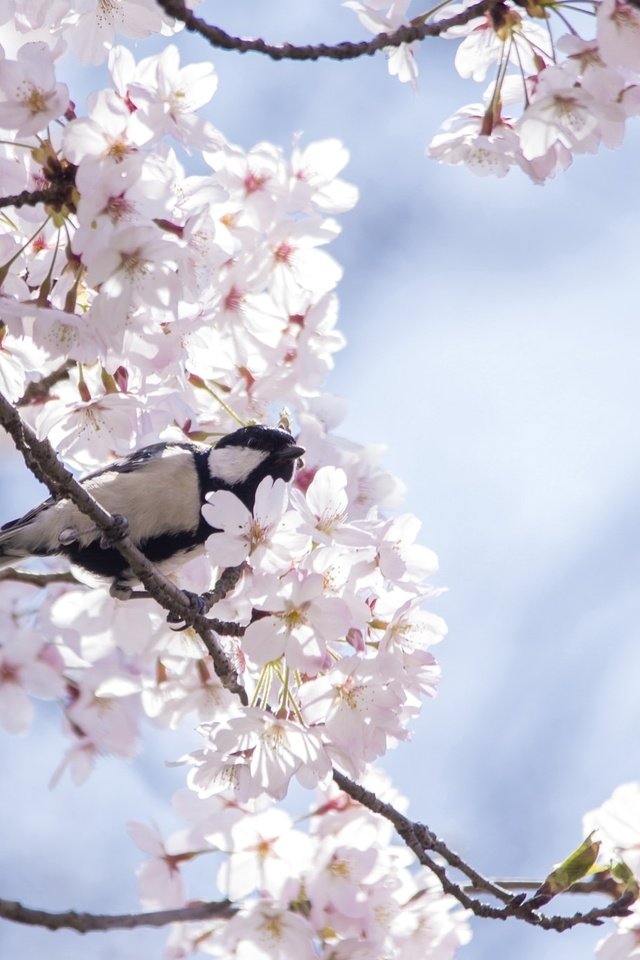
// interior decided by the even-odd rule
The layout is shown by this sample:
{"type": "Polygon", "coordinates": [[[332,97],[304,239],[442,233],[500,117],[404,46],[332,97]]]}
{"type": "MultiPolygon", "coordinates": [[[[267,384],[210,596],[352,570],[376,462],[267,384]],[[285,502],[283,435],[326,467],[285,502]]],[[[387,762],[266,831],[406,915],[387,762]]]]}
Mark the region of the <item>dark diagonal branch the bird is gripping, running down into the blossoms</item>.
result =
{"type": "Polygon", "coordinates": [[[149,594],[177,621],[184,621],[188,626],[193,627],[213,659],[220,682],[245,703],[246,692],[239,684],[238,675],[229,658],[221,650],[215,636],[219,633],[239,637],[244,633],[244,628],[239,624],[208,619],[197,613],[183,591],[163,576],[136,547],[127,535],[126,519],[112,516],[97,500],[94,500],[60,463],[48,440],[39,440],[2,394],[0,394],[0,424],[11,434],[25,463],[34,476],[47,485],[52,496],[56,499],[71,500],[82,513],[90,517],[102,530],[108,545],[115,547],[122,554],[149,594]]]}

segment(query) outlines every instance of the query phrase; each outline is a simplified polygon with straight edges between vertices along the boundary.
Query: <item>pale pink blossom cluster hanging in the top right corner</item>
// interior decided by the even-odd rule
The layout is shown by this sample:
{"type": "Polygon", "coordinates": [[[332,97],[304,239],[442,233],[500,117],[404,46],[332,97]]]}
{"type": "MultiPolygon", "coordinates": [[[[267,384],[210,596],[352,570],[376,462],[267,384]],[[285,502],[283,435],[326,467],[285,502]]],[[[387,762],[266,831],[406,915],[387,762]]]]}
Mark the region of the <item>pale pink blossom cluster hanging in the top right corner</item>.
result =
{"type": "MultiPolygon", "coordinates": [[[[377,33],[407,23],[409,2],[344,5],[377,33]]],[[[438,4],[410,22],[437,23],[469,6],[457,0],[438,4]]],[[[543,183],[575,154],[620,146],[627,120],[640,113],[637,4],[501,0],[441,36],[459,42],[455,67],[461,77],[484,83],[490,70],[494,74],[482,101],[457,110],[431,141],[428,155],[440,163],[464,164],[478,176],[503,177],[519,167],[543,183]],[[594,12],[595,35],[584,29],[594,12]]],[[[390,73],[414,86],[415,53],[416,44],[405,43],[389,58],[390,73]]]]}

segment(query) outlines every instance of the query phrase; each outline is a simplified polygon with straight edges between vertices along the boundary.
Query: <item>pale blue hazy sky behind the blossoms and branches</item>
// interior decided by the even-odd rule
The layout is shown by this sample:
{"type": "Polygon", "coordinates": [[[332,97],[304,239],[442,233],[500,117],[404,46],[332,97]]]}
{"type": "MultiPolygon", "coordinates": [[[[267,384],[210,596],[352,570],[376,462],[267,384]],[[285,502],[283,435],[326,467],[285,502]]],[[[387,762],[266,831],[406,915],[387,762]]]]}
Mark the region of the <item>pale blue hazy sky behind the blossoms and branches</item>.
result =
{"type": "MultiPolygon", "coordinates": [[[[221,0],[200,12],[274,40],[363,34],[334,0],[221,0]]],[[[287,146],[302,131],[351,151],[345,178],[361,201],[332,247],[348,347],[330,387],[348,400],[342,432],[386,445],[448,587],[440,697],[386,768],[411,812],[474,866],[539,877],[579,841],[582,813],[638,770],[638,126],[622,150],[580,157],[545,187],[516,171],[477,179],[423,156],[440,120],[481,93],[456,78],[454,44],[424,45],[417,96],[380,57],[275,64],[180,44],[184,60],[213,59],[208,116],[229,139],[287,146]]],[[[26,471],[6,469],[1,520],[34,498],[26,471]]],[[[51,793],[58,726],[45,708],[31,740],[0,740],[0,816],[16,824],[3,896],[132,909],[124,823],[170,822],[165,801],[182,774],[162,762],[180,749],[159,738],[134,766],[106,761],[87,787],[51,793]],[[69,810],[72,849],[57,826],[69,810]]],[[[460,956],[583,960],[601,935],[477,922],[460,956]]],[[[163,940],[0,930],[7,956],[53,960],[159,956],[163,940]]]]}

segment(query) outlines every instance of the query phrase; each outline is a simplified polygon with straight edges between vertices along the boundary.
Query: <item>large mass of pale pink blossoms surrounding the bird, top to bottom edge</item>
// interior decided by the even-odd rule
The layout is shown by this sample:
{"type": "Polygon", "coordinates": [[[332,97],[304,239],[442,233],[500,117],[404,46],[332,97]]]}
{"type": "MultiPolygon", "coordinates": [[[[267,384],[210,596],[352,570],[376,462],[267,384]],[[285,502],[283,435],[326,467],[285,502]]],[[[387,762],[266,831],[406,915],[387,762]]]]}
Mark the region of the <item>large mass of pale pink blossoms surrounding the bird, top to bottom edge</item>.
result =
{"type": "Polygon", "coordinates": [[[430,647],[445,633],[421,607],[437,593],[437,561],[416,543],[420,524],[385,512],[400,483],[378,449],[334,433],[343,405],[322,392],[344,344],[341,268],[325,247],[357,199],[340,179],[347,152],[335,140],[296,140],[289,152],[229,143],[198,113],[216,90],[213,66],[182,65],[172,43],[136,60],[114,44],[116,25],[133,37],[174,27],[146,0],[121,5],[111,23],[115,6],[100,19],[66,0],[53,12],[14,5],[15,49],[0,59],[0,176],[7,194],[51,199],[0,220],[0,390],[78,471],[279,413],[306,454],[291,488],[263,482],[252,513],[210,495],[203,511],[219,532],[172,571],[203,592],[244,565],[211,615],[245,628],[219,642],[247,706],[199,637],[172,632],[153,601],[9,577],[0,723],[24,733],[32,698],[56,701],[70,746],[53,781],[68,770],[77,783],[101,755],[135,756],[144,724],[198,724],[176,761],[191,788],[179,801],[192,821],[186,846],[172,839],[160,854],[161,841],[134,828],[166,873],[145,869],[143,895],[183,904],[178,865],[223,849],[219,885],[242,902],[223,934],[205,925],[187,943],[183,930],[170,955],[240,956],[243,943],[251,956],[446,960],[466,939],[462,915],[330,782],[334,767],[364,775],[409,736],[435,691],[430,647]],[[109,84],[86,110],[58,79],[66,49],[107,60],[109,84]],[[270,808],[294,778],[322,791],[309,834],[270,808]]]}

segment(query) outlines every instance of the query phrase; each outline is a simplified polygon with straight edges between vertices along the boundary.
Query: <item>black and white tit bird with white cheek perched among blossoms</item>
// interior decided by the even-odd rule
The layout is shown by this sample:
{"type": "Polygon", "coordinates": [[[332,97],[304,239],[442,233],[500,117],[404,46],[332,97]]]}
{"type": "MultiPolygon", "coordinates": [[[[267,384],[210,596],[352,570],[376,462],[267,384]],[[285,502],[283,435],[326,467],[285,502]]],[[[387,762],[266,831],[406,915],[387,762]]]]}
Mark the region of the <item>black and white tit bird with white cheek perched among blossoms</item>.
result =
{"type": "MultiPolygon", "coordinates": [[[[131,540],[152,563],[168,565],[202,553],[207,537],[217,532],[200,512],[208,493],[229,490],[252,511],[260,482],[291,480],[303,453],[284,430],[256,425],[227,434],[213,447],[154,443],[80,483],[109,513],[126,517],[131,540]]],[[[112,596],[126,599],[137,578],[124,557],[102,546],[101,539],[102,532],[70,500],[50,497],[0,527],[0,567],[23,557],[63,554],[89,573],[111,579],[112,596]]]]}

